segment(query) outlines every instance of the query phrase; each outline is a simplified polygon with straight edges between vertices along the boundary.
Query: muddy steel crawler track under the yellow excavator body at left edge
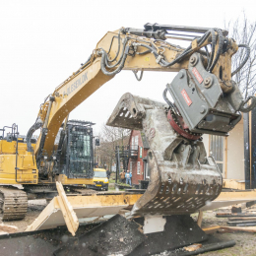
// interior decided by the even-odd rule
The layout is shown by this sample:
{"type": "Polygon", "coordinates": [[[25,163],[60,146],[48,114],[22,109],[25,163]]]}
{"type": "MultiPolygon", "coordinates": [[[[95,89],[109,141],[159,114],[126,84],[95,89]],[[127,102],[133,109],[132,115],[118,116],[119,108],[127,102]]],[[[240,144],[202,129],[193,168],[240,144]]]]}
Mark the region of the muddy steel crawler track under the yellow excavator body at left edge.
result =
{"type": "Polygon", "coordinates": [[[15,187],[0,187],[0,213],[2,221],[23,220],[27,214],[28,196],[15,187]]]}

